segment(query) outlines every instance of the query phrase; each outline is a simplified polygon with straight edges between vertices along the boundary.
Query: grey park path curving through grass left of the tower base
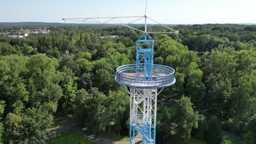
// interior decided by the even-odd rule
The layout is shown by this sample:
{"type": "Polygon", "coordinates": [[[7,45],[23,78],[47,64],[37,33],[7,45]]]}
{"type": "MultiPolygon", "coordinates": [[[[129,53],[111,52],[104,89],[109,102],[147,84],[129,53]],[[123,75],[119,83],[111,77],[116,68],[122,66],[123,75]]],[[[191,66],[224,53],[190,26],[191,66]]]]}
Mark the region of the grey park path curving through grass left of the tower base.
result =
{"type": "Polygon", "coordinates": [[[123,141],[114,141],[105,139],[103,137],[98,137],[93,134],[85,133],[85,130],[79,126],[77,122],[74,121],[71,115],[64,115],[57,117],[57,119],[63,119],[65,121],[65,124],[61,125],[59,128],[56,128],[54,130],[51,130],[49,133],[49,136],[60,134],[64,131],[68,130],[78,130],[80,133],[82,133],[84,136],[88,137],[89,139],[95,141],[97,144],[128,144],[129,142],[123,142],[123,141]]]}

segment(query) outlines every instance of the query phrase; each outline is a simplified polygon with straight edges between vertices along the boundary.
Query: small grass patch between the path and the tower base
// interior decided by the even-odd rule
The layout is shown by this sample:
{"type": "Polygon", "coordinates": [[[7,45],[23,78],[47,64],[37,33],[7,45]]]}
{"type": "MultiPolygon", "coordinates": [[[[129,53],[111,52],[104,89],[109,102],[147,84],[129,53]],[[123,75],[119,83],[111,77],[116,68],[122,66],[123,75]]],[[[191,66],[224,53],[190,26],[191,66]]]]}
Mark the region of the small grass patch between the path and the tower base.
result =
{"type": "Polygon", "coordinates": [[[130,138],[128,136],[121,135],[119,136],[115,131],[111,131],[109,134],[108,130],[106,131],[101,131],[98,135],[98,137],[104,137],[109,140],[114,140],[114,141],[130,141],[130,138]]]}

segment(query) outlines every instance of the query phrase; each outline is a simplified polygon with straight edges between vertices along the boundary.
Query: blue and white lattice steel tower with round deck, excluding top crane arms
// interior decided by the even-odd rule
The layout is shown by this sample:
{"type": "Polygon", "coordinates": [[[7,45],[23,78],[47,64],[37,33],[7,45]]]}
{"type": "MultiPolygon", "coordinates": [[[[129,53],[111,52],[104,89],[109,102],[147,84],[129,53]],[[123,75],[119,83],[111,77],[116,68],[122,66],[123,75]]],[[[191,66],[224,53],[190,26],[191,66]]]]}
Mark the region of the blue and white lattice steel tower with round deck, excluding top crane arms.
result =
{"type": "Polygon", "coordinates": [[[155,143],[158,88],[176,81],[174,69],[154,64],[153,58],[154,40],[144,33],[136,41],[136,64],[117,68],[115,81],[130,89],[130,144],[155,143]]]}

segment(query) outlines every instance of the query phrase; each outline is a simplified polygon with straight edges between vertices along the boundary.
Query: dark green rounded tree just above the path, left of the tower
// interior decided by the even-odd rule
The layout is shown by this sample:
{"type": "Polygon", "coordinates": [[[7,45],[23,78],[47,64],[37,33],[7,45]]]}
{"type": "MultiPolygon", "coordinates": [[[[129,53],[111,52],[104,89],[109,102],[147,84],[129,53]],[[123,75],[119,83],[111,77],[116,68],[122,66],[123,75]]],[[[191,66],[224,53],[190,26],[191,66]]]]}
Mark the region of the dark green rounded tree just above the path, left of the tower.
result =
{"type": "Polygon", "coordinates": [[[97,133],[104,130],[108,124],[108,115],[103,106],[106,96],[98,92],[97,88],[92,88],[90,94],[84,89],[78,91],[74,98],[74,117],[86,126],[88,131],[97,133]]]}

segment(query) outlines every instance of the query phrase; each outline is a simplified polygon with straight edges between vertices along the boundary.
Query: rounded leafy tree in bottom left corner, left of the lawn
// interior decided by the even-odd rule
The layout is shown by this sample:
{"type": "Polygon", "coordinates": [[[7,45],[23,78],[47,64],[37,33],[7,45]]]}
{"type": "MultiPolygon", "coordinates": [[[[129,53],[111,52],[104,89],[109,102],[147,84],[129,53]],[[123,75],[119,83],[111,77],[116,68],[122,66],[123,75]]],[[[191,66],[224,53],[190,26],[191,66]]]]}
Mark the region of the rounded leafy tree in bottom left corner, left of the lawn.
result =
{"type": "Polygon", "coordinates": [[[5,118],[5,135],[9,143],[47,143],[47,129],[53,116],[42,109],[27,109],[21,116],[9,113],[5,118]]]}

